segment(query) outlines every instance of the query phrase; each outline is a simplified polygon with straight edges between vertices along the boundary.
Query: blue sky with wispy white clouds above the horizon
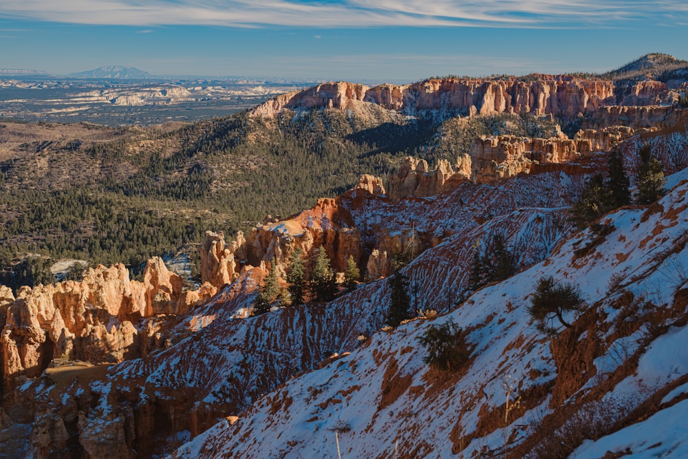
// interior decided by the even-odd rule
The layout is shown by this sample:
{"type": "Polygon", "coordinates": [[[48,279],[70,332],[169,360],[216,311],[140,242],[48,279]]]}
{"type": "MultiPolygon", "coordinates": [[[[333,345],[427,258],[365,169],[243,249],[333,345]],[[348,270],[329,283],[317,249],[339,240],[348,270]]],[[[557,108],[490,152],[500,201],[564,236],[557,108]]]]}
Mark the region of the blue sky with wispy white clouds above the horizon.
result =
{"type": "Polygon", "coordinates": [[[688,59],[685,0],[0,0],[0,68],[410,83],[688,59]]]}

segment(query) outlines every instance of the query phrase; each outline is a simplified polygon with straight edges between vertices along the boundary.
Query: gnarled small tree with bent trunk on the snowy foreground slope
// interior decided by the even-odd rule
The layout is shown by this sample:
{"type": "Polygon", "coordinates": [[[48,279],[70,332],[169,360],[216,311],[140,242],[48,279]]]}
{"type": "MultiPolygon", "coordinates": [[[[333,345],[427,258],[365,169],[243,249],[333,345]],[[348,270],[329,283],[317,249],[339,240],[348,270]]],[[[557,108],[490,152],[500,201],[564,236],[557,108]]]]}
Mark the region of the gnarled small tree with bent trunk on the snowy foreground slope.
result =
{"type": "Polygon", "coordinates": [[[571,324],[563,319],[564,312],[580,311],[585,307],[581,292],[573,284],[555,281],[554,277],[541,277],[537,281],[535,293],[530,297],[528,314],[537,322],[537,330],[555,334],[558,330],[552,322],[559,319],[561,325],[570,328],[571,324]]]}

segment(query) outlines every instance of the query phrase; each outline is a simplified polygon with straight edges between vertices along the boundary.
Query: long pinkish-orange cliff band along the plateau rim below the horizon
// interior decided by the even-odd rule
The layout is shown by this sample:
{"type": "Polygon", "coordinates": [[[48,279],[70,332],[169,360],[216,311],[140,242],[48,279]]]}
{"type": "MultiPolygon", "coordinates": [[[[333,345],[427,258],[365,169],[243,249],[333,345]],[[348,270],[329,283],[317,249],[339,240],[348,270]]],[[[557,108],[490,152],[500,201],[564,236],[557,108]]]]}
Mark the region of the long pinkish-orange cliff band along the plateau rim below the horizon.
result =
{"type": "Polygon", "coordinates": [[[283,94],[260,105],[253,116],[273,117],[290,109],[334,108],[350,110],[361,103],[379,105],[405,115],[445,113],[490,115],[499,113],[550,114],[572,119],[600,107],[657,105],[673,100],[667,85],[658,81],[638,82],[617,101],[614,82],[588,81],[573,76],[535,75],[519,78],[462,80],[432,79],[411,85],[367,87],[354,83],[325,83],[303,92],[283,94]]]}

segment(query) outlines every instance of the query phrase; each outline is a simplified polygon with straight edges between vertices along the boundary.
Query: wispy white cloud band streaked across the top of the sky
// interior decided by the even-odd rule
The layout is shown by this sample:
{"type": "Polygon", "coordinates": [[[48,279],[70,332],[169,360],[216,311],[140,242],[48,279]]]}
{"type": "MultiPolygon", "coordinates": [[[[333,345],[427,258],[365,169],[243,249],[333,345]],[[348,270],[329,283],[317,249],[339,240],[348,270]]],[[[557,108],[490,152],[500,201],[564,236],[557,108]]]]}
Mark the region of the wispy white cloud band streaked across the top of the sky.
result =
{"type": "Polygon", "coordinates": [[[0,17],[98,25],[564,28],[684,17],[684,0],[0,0],[0,17]]]}

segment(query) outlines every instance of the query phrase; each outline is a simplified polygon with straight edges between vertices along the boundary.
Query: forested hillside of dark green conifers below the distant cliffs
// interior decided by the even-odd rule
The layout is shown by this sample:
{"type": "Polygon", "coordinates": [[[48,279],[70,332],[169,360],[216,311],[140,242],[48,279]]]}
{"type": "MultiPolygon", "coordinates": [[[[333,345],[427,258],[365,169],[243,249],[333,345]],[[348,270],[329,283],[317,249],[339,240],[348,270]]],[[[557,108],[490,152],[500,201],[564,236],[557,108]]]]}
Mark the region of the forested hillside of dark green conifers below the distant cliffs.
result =
{"type": "Polygon", "coordinates": [[[6,121],[0,283],[52,280],[45,257],[121,261],[137,273],[149,257],[200,242],[206,230],[232,234],[268,214],[290,215],[343,193],[363,173],[386,180],[408,155],[436,164],[468,153],[477,136],[552,131],[549,120],[530,116],[377,115],[314,109],[265,120],[244,112],[119,129],[6,121]]]}

